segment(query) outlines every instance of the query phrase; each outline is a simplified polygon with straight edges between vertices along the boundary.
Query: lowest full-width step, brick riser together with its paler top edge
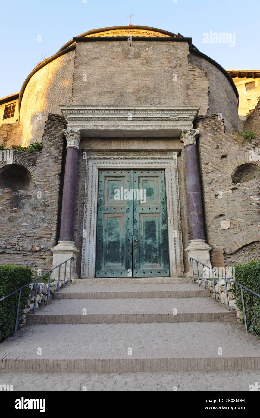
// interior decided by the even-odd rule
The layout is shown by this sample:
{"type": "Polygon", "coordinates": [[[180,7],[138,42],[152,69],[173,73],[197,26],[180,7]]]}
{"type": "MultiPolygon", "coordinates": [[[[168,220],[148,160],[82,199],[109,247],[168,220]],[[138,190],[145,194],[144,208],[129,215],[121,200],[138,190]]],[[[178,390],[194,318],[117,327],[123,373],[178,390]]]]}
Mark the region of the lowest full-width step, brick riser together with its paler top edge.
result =
{"type": "Polygon", "coordinates": [[[216,372],[223,370],[260,370],[259,352],[227,352],[218,356],[212,352],[121,352],[4,354],[0,357],[0,372],[40,373],[126,373],[126,372],[216,372]]]}

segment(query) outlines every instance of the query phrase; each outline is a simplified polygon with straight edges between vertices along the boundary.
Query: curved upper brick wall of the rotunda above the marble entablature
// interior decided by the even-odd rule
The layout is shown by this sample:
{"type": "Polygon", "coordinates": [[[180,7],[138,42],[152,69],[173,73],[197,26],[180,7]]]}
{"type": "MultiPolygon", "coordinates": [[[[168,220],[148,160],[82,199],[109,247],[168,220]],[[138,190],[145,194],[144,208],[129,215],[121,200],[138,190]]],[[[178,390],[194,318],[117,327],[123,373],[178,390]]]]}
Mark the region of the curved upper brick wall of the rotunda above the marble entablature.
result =
{"type": "Polygon", "coordinates": [[[36,71],[21,98],[22,145],[41,141],[47,115],[61,104],[201,105],[199,115],[219,112],[227,131],[237,130],[236,94],[221,70],[190,52],[188,41],[160,36],[77,40],[75,50],[36,71]]]}

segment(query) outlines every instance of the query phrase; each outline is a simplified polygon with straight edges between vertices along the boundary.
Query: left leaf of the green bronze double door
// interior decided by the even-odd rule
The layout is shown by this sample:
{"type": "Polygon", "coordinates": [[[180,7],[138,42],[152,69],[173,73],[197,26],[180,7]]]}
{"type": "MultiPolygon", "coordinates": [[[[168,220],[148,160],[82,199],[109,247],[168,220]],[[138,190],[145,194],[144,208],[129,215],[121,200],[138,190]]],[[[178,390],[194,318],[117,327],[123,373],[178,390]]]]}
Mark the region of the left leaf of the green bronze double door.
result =
{"type": "Polygon", "coordinates": [[[99,171],[96,277],[132,276],[132,210],[130,200],[115,199],[121,187],[131,188],[131,170],[99,171]]]}

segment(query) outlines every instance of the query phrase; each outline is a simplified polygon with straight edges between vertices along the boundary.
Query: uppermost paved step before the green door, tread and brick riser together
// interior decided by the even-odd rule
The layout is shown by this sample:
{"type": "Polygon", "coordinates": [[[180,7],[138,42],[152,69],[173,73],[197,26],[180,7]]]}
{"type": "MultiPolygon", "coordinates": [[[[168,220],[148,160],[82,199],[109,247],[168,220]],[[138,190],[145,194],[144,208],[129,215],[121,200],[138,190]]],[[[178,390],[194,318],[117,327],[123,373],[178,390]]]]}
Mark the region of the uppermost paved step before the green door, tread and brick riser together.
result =
{"type": "Polygon", "coordinates": [[[79,284],[53,294],[56,299],[191,298],[210,296],[193,283],[79,284]]]}

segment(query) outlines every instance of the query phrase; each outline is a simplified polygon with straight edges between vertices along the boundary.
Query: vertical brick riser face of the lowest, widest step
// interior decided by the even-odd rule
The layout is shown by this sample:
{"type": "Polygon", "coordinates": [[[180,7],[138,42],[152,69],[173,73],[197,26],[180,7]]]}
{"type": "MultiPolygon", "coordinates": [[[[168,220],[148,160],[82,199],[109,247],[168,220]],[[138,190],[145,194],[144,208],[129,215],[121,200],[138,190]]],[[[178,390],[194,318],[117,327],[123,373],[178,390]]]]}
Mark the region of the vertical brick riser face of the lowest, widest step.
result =
{"type": "Polygon", "coordinates": [[[260,357],[0,360],[2,373],[220,372],[232,370],[260,370],[260,357]]]}

